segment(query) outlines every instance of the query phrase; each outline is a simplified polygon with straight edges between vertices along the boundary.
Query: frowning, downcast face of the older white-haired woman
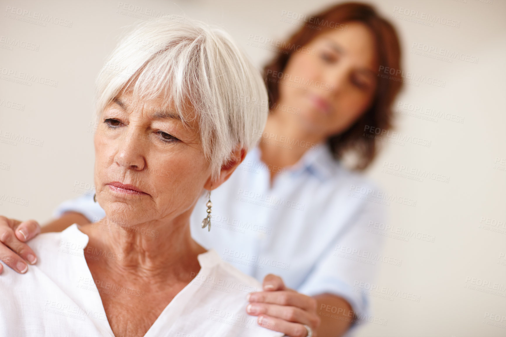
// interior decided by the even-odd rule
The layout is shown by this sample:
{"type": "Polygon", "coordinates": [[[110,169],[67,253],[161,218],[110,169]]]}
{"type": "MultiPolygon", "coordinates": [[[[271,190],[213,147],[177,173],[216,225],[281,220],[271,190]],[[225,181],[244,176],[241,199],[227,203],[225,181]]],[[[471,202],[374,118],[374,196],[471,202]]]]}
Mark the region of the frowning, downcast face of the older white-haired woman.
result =
{"type": "Polygon", "coordinates": [[[196,125],[190,130],[162,100],[117,97],[95,135],[95,186],[109,220],[136,225],[185,218],[210,176],[196,125]]]}

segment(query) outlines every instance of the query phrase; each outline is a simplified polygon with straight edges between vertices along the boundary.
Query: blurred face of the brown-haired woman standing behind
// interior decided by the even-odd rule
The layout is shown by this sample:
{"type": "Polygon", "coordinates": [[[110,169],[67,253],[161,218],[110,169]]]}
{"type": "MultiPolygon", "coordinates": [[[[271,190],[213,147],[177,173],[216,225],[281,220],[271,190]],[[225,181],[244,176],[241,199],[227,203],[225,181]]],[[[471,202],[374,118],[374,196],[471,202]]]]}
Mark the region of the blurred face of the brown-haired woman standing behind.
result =
{"type": "Polygon", "coordinates": [[[322,33],[305,47],[314,55],[293,53],[284,74],[313,85],[280,83],[279,103],[301,109],[298,119],[307,132],[322,138],[344,132],[371,105],[376,90],[373,35],[365,25],[349,22],[347,31],[322,33]]]}

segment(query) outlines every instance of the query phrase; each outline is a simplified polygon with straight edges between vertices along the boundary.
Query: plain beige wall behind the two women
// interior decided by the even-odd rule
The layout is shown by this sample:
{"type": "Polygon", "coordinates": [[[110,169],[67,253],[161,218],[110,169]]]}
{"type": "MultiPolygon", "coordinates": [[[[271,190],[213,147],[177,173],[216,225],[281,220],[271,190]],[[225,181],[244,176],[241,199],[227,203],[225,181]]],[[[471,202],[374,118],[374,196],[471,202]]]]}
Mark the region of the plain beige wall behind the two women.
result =
{"type": "MultiPolygon", "coordinates": [[[[90,193],[94,78],[124,27],[152,18],[138,12],[164,11],[218,24],[260,68],[272,54],[248,46],[251,34],[283,39],[298,28],[281,20],[288,12],[311,14],[333,2],[1,3],[0,214],[45,222],[59,202],[90,193]],[[135,6],[143,9],[136,13],[135,6]],[[28,18],[35,12],[57,17],[61,24],[28,18]],[[19,45],[9,44],[13,40],[19,45]],[[13,82],[22,72],[44,80],[13,82]],[[13,140],[11,134],[23,140],[13,140]]],[[[416,80],[405,85],[395,104],[396,131],[430,141],[430,147],[385,142],[367,172],[384,190],[416,200],[416,206],[385,205],[390,220],[382,228],[388,229],[378,233],[390,236],[385,255],[402,260],[402,265],[380,263],[370,300],[372,315],[387,323],[369,323],[358,335],[504,336],[506,2],[372,4],[398,29],[405,71],[436,78],[444,88],[416,80]],[[450,25],[412,21],[422,13],[443,23],[450,20],[450,25]],[[451,26],[457,22],[458,27],[451,26]],[[417,55],[417,46],[446,49],[463,60],[435,59],[434,52],[417,55]],[[436,116],[427,115],[431,111],[436,116]],[[436,179],[409,179],[402,166],[429,171],[436,179]],[[439,181],[438,175],[448,182],[439,181]],[[409,237],[406,231],[416,235],[409,237]],[[387,299],[382,291],[390,292],[387,299]]]]}

